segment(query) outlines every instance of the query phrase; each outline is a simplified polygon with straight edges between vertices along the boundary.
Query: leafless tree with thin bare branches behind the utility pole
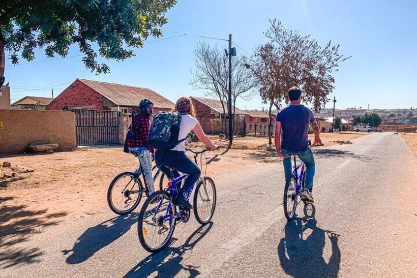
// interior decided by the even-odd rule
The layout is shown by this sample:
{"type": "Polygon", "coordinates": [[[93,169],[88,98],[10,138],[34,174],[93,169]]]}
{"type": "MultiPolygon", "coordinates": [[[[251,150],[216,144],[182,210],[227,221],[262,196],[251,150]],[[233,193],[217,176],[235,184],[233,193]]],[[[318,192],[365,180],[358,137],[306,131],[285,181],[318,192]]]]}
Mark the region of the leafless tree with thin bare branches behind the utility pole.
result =
{"type": "MultiPolygon", "coordinates": [[[[223,115],[228,110],[229,61],[224,52],[217,45],[210,46],[201,41],[194,50],[194,64],[196,69],[191,71],[193,77],[190,84],[193,89],[200,89],[206,96],[218,98],[223,108],[223,115]]],[[[232,59],[232,106],[233,115],[236,112],[236,100],[241,97],[249,100],[254,95],[254,79],[243,66],[241,57],[232,59]]],[[[222,119],[225,122],[225,117],[222,119]]],[[[233,119],[235,124],[235,119],[233,119]]],[[[234,124],[232,128],[234,127],[234,124]]],[[[230,128],[230,127],[229,127],[230,128]]]]}

